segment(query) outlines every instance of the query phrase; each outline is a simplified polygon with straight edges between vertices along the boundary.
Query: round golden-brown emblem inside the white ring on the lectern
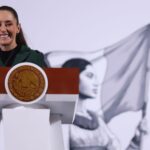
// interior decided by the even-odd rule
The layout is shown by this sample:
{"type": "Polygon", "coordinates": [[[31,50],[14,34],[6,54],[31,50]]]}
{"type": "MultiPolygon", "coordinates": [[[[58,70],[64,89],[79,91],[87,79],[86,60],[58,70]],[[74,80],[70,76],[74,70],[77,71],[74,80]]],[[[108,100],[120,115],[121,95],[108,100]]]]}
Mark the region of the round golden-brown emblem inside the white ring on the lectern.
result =
{"type": "Polygon", "coordinates": [[[23,65],[11,72],[8,88],[17,100],[31,102],[43,93],[45,79],[41,71],[34,66],[23,65]]]}

